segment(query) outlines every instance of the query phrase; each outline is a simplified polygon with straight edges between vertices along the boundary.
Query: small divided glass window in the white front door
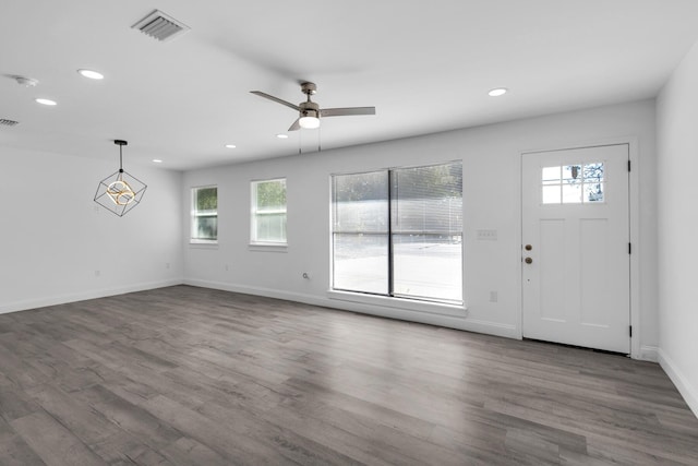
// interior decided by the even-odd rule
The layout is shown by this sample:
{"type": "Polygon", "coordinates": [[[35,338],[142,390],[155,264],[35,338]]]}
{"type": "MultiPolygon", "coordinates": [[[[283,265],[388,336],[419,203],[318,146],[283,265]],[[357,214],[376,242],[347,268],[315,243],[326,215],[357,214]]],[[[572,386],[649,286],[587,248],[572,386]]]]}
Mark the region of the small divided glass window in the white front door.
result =
{"type": "Polygon", "coordinates": [[[602,162],[543,167],[543,204],[600,204],[605,201],[602,162]]]}

